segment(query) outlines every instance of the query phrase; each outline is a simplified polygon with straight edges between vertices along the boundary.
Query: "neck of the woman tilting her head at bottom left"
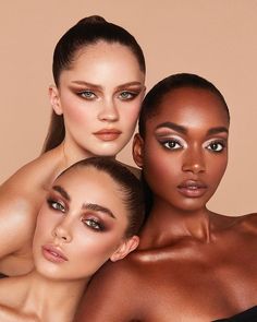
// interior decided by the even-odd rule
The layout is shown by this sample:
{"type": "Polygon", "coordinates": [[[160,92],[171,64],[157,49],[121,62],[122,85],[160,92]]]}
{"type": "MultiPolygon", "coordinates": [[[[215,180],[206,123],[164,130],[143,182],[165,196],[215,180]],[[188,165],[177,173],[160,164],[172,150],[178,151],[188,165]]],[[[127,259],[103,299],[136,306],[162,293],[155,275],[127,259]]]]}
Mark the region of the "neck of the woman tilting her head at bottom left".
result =
{"type": "Polygon", "coordinates": [[[53,281],[36,271],[25,278],[27,291],[24,310],[35,312],[41,321],[73,320],[88,281],[53,281]]]}

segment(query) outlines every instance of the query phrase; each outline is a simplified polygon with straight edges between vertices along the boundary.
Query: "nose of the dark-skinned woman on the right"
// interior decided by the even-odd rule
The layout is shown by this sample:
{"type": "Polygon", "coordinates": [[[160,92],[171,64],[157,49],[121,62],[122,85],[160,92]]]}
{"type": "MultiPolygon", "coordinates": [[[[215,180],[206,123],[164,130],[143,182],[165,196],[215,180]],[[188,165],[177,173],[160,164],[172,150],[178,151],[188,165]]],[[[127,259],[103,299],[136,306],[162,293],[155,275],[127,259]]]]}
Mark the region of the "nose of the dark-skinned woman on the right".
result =
{"type": "Polygon", "coordinates": [[[204,152],[198,148],[192,148],[185,153],[182,166],[183,171],[191,171],[195,175],[206,170],[204,152]]]}

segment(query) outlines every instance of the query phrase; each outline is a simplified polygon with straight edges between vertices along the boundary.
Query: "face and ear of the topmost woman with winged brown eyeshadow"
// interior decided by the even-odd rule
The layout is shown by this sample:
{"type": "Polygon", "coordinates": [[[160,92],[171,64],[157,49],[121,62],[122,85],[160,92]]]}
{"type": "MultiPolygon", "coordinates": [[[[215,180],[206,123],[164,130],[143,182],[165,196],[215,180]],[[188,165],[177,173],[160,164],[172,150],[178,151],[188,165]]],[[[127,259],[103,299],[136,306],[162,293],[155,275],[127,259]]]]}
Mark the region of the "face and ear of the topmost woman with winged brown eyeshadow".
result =
{"type": "Polygon", "coordinates": [[[130,48],[99,41],[78,50],[52,106],[64,117],[65,144],[83,157],[113,156],[130,141],[144,97],[145,75],[130,48]]]}

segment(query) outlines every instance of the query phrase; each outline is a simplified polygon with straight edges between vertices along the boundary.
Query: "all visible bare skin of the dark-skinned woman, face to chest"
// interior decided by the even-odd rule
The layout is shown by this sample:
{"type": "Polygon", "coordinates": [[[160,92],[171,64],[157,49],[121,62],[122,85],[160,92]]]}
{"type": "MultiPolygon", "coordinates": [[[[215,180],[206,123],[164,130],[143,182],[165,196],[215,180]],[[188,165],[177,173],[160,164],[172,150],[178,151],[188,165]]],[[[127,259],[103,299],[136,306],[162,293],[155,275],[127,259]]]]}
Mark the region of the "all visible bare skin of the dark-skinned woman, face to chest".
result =
{"type": "Polygon", "coordinates": [[[139,248],[96,274],[75,321],[206,322],[257,305],[257,214],[206,206],[227,167],[228,133],[210,92],[166,95],[134,140],[154,192],[139,248]]]}

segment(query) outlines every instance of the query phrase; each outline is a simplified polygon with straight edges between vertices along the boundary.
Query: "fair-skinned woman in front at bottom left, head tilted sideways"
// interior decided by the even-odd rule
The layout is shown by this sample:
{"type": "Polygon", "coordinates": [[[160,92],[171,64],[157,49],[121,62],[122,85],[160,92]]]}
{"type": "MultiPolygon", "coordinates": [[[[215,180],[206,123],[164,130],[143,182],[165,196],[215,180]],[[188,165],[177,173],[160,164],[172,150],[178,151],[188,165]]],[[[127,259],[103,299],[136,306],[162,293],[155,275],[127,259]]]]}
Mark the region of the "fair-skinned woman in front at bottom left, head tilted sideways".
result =
{"type": "Polygon", "coordinates": [[[73,321],[91,275],[138,245],[140,181],[93,157],[61,174],[45,196],[33,241],[35,269],[0,281],[0,321],[73,321]]]}

